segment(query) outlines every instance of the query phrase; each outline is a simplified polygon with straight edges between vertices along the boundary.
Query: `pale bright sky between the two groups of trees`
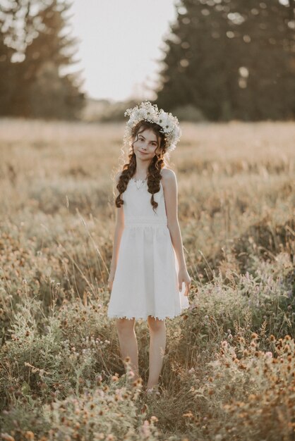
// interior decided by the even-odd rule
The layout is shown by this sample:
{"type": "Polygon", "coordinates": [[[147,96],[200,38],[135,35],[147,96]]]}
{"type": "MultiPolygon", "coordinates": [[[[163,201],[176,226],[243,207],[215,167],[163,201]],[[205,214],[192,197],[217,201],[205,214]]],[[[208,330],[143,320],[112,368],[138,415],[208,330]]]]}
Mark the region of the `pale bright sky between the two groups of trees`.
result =
{"type": "Polygon", "coordinates": [[[73,0],[83,92],[95,99],[152,99],[163,37],[176,18],[176,0],[73,0]]]}

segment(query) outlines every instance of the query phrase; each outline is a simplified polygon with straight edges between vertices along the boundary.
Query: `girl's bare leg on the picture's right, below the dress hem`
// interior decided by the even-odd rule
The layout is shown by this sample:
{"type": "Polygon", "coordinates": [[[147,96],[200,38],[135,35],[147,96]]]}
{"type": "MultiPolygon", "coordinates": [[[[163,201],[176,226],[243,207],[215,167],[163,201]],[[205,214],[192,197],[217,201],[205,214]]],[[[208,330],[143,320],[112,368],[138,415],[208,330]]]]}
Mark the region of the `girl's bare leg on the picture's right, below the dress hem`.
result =
{"type": "Polygon", "coordinates": [[[148,327],[150,329],[150,369],[147,388],[157,385],[159,381],[166,347],[165,321],[148,316],[148,327]]]}

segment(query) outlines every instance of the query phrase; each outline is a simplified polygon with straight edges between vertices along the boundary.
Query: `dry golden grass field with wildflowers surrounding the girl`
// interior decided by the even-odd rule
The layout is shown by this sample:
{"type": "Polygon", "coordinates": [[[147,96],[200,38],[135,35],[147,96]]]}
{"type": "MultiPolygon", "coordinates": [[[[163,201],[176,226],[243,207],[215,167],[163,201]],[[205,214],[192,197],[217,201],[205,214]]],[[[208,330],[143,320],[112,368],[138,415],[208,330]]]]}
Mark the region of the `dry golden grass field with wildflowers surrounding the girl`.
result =
{"type": "Polygon", "coordinates": [[[191,307],[145,402],[106,315],[124,125],[0,120],[0,439],[294,439],[295,123],[181,126],[191,307]]]}

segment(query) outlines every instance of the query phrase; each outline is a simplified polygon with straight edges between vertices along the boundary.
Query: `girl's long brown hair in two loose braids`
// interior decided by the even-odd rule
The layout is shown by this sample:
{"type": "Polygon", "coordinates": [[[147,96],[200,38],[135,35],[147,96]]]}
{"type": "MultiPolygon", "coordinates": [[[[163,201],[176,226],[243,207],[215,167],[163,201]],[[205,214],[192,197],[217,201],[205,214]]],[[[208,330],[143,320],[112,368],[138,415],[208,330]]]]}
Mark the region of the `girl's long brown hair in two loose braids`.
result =
{"type": "Polygon", "coordinates": [[[131,142],[131,150],[128,152],[128,163],[124,164],[123,170],[121,171],[121,175],[119,177],[119,182],[116,185],[117,190],[119,190],[119,194],[116,197],[115,205],[117,208],[120,208],[121,205],[124,204],[123,199],[121,199],[121,194],[125,192],[129,180],[136,173],[136,154],[133,151],[133,143],[138,140],[138,135],[143,132],[145,129],[152,129],[152,131],[157,136],[157,148],[155,149],[155,156],[150,161],[148,166],[148,192],[152,194],[150,198],[150,203],[152,204],[152,209],[155,211],[158,204],[154,199],[154,194],[159,192],[159,181],[162,176],[160,171],[165,166],[164,162],[164,154],[167,152],[167,142],[164,134],[162,133],[162,128],[157,123],[151,123],[150,121],[142,120],[137,123],[132,130],[132,142],[131,142]]]}

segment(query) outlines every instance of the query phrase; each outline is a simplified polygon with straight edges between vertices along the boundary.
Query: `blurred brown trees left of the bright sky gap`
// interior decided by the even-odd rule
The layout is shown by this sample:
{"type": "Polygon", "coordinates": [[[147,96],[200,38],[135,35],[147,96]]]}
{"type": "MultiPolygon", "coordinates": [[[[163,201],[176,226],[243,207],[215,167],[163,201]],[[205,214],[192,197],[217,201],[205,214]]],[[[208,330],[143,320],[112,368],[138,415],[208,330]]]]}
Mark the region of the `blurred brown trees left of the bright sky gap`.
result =
{"type": "Polygon", "coordinates": [[[79,118],[85,103],[76,39],[67,30],[68,1],[1,0],[0,114],[79,118]]]}

